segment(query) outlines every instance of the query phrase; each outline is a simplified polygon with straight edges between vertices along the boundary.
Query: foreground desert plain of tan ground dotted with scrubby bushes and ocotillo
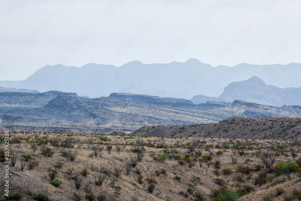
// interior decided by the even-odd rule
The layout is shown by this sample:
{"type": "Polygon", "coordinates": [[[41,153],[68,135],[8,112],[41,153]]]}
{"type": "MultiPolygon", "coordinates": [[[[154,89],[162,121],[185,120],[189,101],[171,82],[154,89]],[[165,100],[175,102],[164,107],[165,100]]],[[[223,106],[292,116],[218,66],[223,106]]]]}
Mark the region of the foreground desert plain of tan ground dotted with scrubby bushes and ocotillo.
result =
{"type": "MultiPolygon", "coordinates": [[[[10,155],[14,160],[11,171],[15,173],[10,177],[14,189],[10,196],[15,200],[20,196],[27,200],[92,201],[301,197],[299,141],[13,135],[18,143],[14,144],[14,155],[10,155]]],[[[11,200],[3,194],[1,199],[11,200]]]]}

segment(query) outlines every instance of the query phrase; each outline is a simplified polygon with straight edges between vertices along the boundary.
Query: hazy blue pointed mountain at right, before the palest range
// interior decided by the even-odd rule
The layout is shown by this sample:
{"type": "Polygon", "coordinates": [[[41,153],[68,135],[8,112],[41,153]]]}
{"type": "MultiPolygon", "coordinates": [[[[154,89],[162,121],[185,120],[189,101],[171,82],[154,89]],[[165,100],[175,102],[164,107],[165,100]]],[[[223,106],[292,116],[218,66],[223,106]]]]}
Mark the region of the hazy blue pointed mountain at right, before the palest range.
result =
{"type": "MultiPolygon", "coordinates": [[[[301,82],[299,78],[296,80],[296,83],[298,82],[301,82]]],[[[282,89],[267,85],[259,77],[253,76],[248,80],[230,83],[225,87],[222,95],[218,97],[197,95],[190,100],[196,104],[206,101],[233,102],[234,100],[244,100],[272,106],[301,105],[301,87],[282,89]]]]}

